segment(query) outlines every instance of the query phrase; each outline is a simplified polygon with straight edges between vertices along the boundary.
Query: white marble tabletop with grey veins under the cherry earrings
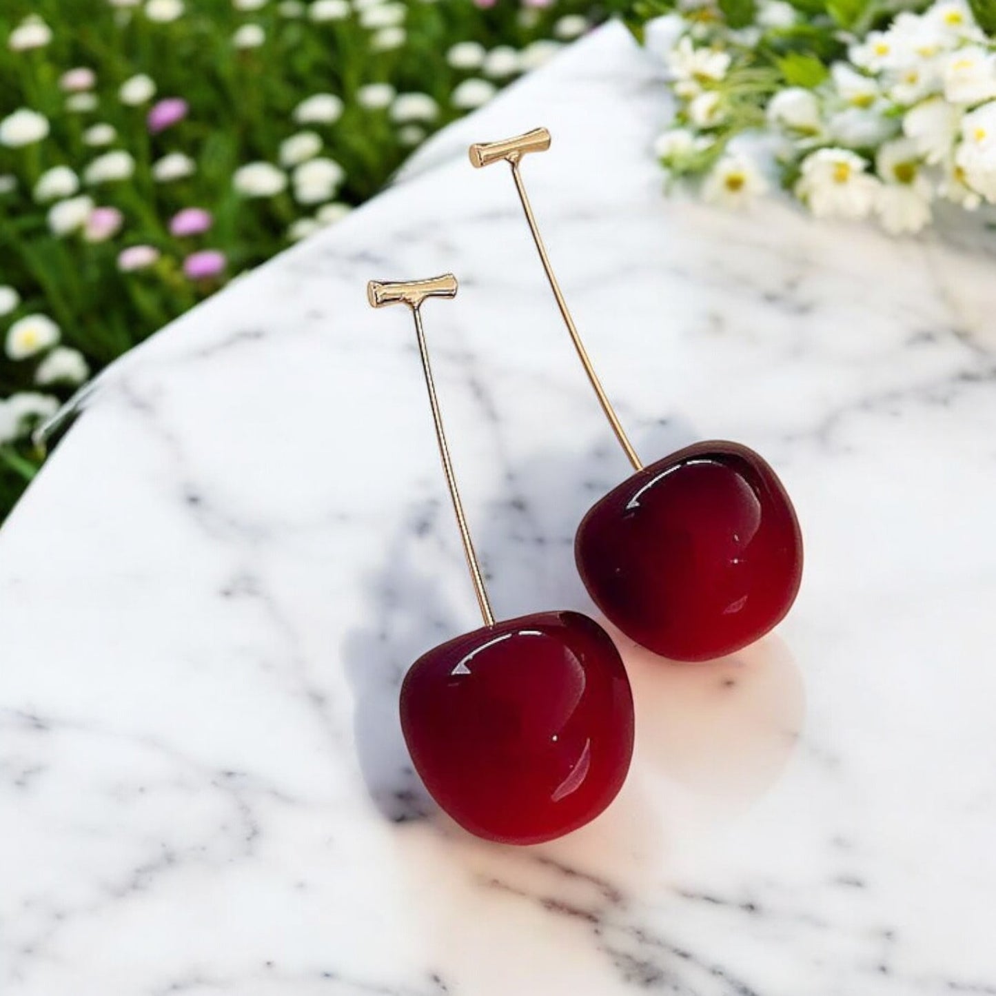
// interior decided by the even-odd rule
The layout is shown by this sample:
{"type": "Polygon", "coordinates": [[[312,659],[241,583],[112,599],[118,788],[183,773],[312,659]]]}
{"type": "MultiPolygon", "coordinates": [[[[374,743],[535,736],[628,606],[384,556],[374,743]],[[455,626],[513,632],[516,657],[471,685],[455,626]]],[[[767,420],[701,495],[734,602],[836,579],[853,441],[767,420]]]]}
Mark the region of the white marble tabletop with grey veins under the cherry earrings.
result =
{"type": "Polygon", "coordinates": [[[4,996],[996,993],[993,259],[664,199],[653,73],[587,40],[97,392],[0,533],[4,996]],[[623,644],[622,796],[516,850],[405,763],[400,675],[477,617],[408,320],[364,287],[462,278],[425,315],[496,609],[588,609],[572,534],[626,464],[464,152],[536,124],[637,447],[755,446],[808,563],[739,659],[623,644]]]}

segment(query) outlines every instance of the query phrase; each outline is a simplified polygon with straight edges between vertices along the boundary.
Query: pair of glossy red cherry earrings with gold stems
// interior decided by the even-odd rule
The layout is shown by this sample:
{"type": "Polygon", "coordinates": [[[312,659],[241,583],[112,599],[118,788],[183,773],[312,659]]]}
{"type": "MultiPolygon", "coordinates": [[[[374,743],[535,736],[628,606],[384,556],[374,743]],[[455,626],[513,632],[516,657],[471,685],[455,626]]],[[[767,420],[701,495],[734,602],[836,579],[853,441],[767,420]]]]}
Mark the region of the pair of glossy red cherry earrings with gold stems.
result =
{"type": "MultiPolygon", "coordinates": [[[[789,611],[802,537],[771,467],[732,442],[699,442],[643,466],[581,342],[540,237],[520,163],[550,147],[537,128],[475,144],[481,167],[504,160],[578,356],[634,473],[578,527],[575,555],[605,616],[674,660],[719,657],[752,643],[789,611]]],[[[419,657],[400,694],[401,729],[425,787],[470,833],[538,844],[594,820],[616,798],[632,756],[633,704],[622,658],[597,622],[548,612],[496,622],[460,502],[422,330],[426,298],[456,295],[452,274],[371,281],[374,308],[411,309],[453,501],[484,626],[419,657]]]]}

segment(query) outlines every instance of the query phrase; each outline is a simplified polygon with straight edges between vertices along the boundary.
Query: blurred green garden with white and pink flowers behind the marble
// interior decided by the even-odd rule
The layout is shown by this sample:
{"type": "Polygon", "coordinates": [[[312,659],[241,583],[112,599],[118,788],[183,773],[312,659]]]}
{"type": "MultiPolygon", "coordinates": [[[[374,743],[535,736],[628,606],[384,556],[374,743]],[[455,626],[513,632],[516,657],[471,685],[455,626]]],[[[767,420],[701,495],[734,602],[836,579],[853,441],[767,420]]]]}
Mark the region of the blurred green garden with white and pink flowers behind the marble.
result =
{"type": "Polygon", "coordinates": [[[610,6],[3,0],[0,521],[81,384],[610,6]]]}

